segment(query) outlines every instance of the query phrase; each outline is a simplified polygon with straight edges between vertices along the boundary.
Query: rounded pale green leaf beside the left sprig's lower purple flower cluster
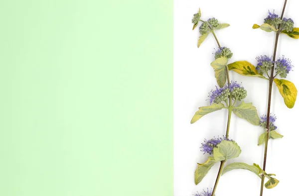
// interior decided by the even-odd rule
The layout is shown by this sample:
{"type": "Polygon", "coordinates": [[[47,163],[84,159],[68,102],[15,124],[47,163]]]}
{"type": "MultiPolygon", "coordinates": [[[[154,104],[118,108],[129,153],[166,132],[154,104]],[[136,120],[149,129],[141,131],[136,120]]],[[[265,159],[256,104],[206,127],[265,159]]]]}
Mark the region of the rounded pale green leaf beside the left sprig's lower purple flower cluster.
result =
{"type": "Polygon", "coordinates": [[[235,141],[222,140],[217,147],[213,149],[215,161],[233,159],[240,155],[241,148],[235,141]]]}

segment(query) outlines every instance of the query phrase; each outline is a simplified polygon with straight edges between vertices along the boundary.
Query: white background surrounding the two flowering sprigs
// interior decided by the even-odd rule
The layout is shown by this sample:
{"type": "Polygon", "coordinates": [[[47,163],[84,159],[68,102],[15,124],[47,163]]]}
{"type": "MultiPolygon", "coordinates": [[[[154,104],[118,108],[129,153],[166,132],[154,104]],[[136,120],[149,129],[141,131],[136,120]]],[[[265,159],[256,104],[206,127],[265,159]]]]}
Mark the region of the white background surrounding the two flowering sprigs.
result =
{"type": "MultiPolygon", "coordinates": [[[[196,191],[212,188],[215,183],[219,163],[216,164],[199,185],[194,184],[197,163],[203,163],[208,155],[203,155],[200,145],[204,138],[225,134],[227,110],[223,109],[202,117],[190,124],[199,106],[209,105],[207,98],[217,85],[210,63],[214,60],[216,42],[210,34],[200,48],[197,48],[198,27],[192,31],[191,19],[201,8],[201,19],[216,17],[220,23],[231,26],[216,31],[221,46],[233,52],[230,63],[247,60],[256,65],[259,55],[273,55],[275,34],[261,29],[252,29],[254,23],[262,24],[268,9],[281,14],[284,0],[174,0],[174,196],[191,196],[196,191]]],[[[299,27],[299,1],[289,0],[285,12],[299,27]]],[[[277,56],[285,55],[293,61],[294,71],[287,80],[299,87],[299,40],[281,35],[277,56]]],[[[230,72],[233,81],[242,82],[247,90],[245,102],[253,102],[258,114],[266,114],[268,82],[263,79],[244,77],[230,72]]],[[[277,131],[284,138],[270,140],[266,172],[274,173],[280,180],[272,189],[264,189],[264,196],[299,195],[297,192],[298,162],[292,161],[298,155],[299,103],[293,109],[287,108],[275,84],[271,112],[277,116],[277,131]],[[294,153],[292,152],[294,151],[294,153]]],[[[232,162],[257,163],[262,166],[264,145],[258,146],[262,128],[237,118],[232,114],[230,138],[241,147],[241,155],[232,162]]],[[[259,196],[260,179],[245,170],[235,170],[220,178],[216,196],[259,196]]]]}

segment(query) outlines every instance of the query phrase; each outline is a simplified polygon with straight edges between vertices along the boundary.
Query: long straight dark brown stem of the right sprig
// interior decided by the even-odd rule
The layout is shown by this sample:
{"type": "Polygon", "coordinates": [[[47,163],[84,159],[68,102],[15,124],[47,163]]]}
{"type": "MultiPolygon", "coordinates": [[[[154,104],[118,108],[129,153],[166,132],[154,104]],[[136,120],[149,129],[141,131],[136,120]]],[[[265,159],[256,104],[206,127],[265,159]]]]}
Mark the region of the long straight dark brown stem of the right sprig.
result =
{"type": "MultiPolygon", "coordinates": [[[[281,19],[283,19],[287,1],[285,0],[284,8],[282,11],[281,19]]],[[[278,29],[280,29],[280,25],[278,26],[278,29]]],[[[277,45],[278,45],[278,39],[279,39],[279,34],[280,32],[278,31],[276,33],[275,37],[275,46],[274,46],[274,53],[273,53],[273,62],[275,64],[275,59],[276,59],[276,51],[277,51],[277,45]]],[[[268,110],[267,110],[267,126],[266,126],[266,142],[265,142],[265,151],[264,151],[264,164],[263,164],[263,170],[266,171],[266,162],[267,162],[267,150],[268,150],[268,141],[269,141],[269,124],[270,124],[270,108],[271,108],[271,96],[272,96],[272,85],[273,85],[273,80],[274,80],[274,64],[271,69],[271,75],[269,78],[269,96],[268,96],[268,110]]],[[[261,192],[260,196],[263,196],[263,190],[264,190],[264,181],[265,181],[265,176],[262,176],[262,182],[261,182],[261,192]]]]}

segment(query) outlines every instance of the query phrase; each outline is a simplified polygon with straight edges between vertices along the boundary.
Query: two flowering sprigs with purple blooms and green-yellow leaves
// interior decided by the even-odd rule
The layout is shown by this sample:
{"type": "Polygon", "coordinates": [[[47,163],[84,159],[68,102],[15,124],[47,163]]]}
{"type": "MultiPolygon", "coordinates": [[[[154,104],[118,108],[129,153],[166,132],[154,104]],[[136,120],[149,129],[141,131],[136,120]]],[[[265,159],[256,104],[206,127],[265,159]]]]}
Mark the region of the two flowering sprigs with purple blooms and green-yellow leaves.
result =
{"type": "MultiPolygon", "coordinates": [[[[284,17],[286,5],[287,0],[284,2],[283,11],[280,16],[274,11],[269,11],[263,24],[253,25],[253,29],[261,29],[266,32],[276,34],[273,56],[263,54],[256,58],[257,62],[255,65],[248,61],[229,62],[233,53],[228,47],[221,46],[215,33],[220,29],[229,27],[229,24],[220,23],[216,18],[210,18],[206,21],[203,20],[200,9],[193,15],[193,30],[199,27],[199,32],[201,34],[199,36],[197,46],[200,47],[202,42],[208,36],[213,36],[218,45],[218,50],[215,52],[215,60],[211,62],[211,67],[214,69],[218,87],[212,90],[208,95],[210,105],[199,107],[198,111],[192,117],[191,123],[195,123],[204,115],[217,110],[226,109],[228,112],[225,136],[205,139],[203,141],[201,151],[203,154],[208,154],[209,156],[207,157],[206,162],[197,164],[197,169],[195,170],[194,175],[194,182],[198,185],[215,163],[220,162],[219,172],[216,177],[214,187],[212,189],[204,189],[200,193],[197,192],[194,194],[195,196],[215,196],[220,177],[235,169],[248,170],[261,179],[260,196],[263,195],[264,187],[272,189],[279,184],[279,180],[276,179],[275,174],[268,173],[268,171],[266,171],[268,141],[269,139],[278,139],[283,137],[283,135],[278,133],[277,126],[274,124],[276,116],[271,114],[273,83],[278,88],[287,107],[293,108],[297,98],[297,89],[295,85],[285,79],[293,68],[291,60],[289,60],[286,56],[279,58],[276,57],[280,35],[284,34],[290,38],[299,39],[299,28],[294,27],[294,21],[291,18],[284,17]],[[234,71],[243,76],[253,77],[253,80],[262,80],[269,83],[266,115],[259,117],[257,109],[253,103],[245,102],[243,100],[247,96],[247,91],[239,82],[230,80],[229,71],[234,71]],[[259,125],[263,128],[264,133],[258,138],[257,143],[261,146],[264,145],[264,162],[262,167],[255,163],[247,164],[235,162],[228,165],[225,164],[228,159],[237,158],[241,153],[240,146],[232,138],[229,138],[230,121],[232,116],[243,118],[249,123],[259,125]],[[265,178],[267,178],[266,183],[265,178]]],[[[226,194],[219,193],[219,195],[226,194]]]]}

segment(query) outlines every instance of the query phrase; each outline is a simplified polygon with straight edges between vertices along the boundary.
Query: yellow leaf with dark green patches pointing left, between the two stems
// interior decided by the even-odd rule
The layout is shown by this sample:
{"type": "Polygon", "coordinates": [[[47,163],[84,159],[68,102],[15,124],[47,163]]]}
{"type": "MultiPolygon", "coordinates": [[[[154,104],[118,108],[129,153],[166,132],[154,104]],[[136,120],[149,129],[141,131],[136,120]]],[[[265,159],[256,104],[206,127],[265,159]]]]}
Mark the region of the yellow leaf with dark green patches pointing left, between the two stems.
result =
{"type": "Polygon", "coordinates": [[[231,63],[228,65],[228,69],[237,72],[238,74],[241,74],[243,76],[258,77],[267,80],[267,78],[265,78],[262,74],[259,74],[256,71],[255,66],[249,63],[248,61],[237,61],[231,63]]]}

